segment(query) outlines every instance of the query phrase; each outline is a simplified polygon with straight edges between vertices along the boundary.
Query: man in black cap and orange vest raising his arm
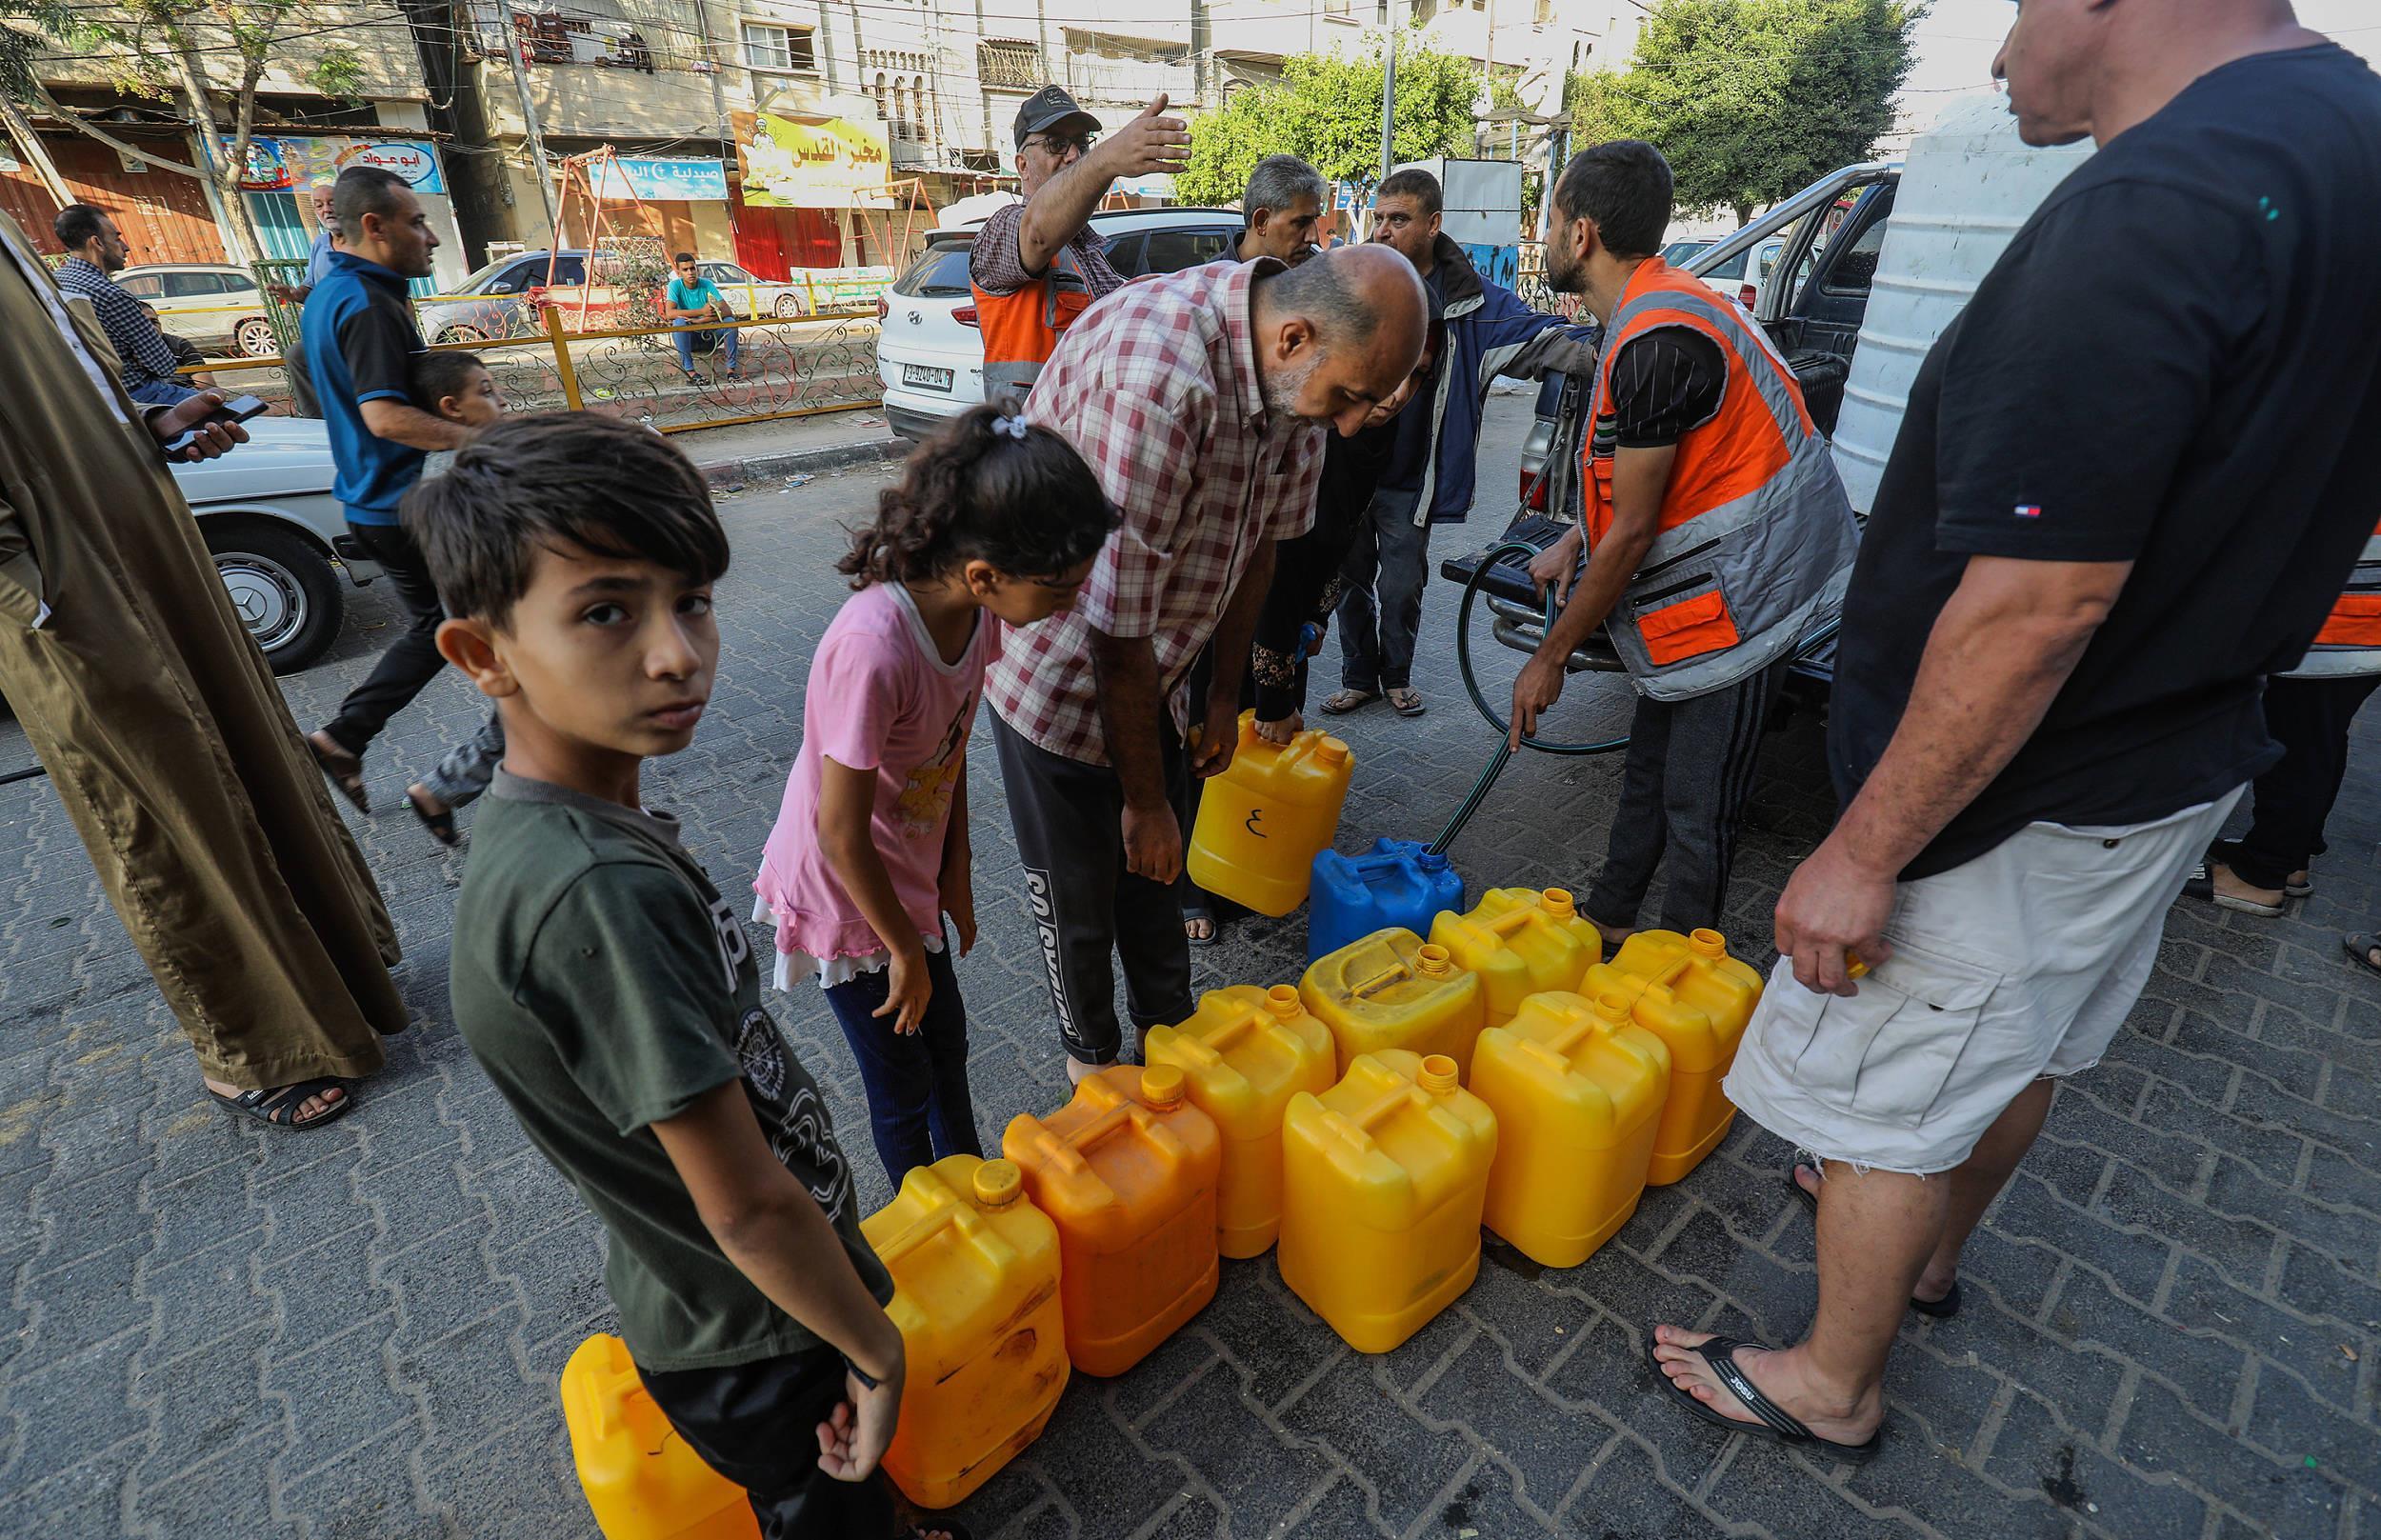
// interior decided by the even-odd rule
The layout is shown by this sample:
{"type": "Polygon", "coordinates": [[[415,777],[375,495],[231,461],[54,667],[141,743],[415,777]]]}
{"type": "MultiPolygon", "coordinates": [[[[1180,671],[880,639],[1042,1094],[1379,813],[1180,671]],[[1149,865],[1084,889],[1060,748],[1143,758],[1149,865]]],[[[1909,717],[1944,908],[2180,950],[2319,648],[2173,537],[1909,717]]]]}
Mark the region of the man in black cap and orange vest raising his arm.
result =
{"type": "Polygon", "coordinates": [[[1190,126],[1164,117],[1167,95],[1098,138],[1100,119],[1060,86],[1017,109],[1017,186],[1026,200],[983,221],[967,259],[983,328],[983,395],[1024,395],[1074,317],[1124,283],[1090,233],[1090,212],[1119,176],[1181,171],[1190,126]],[[1095,143],[1098,140],[1098,143],[1095,143]]]}

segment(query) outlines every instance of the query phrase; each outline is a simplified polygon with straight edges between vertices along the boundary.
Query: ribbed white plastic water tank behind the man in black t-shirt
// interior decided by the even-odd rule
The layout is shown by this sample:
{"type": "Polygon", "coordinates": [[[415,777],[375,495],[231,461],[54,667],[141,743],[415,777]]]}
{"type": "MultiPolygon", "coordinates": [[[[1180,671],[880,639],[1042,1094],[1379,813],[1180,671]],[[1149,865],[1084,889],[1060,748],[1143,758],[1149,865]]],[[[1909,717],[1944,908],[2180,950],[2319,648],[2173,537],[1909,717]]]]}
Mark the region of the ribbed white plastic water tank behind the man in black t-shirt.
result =
{"type": "Polygon", "coordinates": [[[2091,140],[2060,150],[2019,143],[2017,119],[1998,93],[1960,98],[1910,140],[1836,419],[1836,469],[1862,514],[1876,500],[1926,350],[2086,155],[2091,140]]]}

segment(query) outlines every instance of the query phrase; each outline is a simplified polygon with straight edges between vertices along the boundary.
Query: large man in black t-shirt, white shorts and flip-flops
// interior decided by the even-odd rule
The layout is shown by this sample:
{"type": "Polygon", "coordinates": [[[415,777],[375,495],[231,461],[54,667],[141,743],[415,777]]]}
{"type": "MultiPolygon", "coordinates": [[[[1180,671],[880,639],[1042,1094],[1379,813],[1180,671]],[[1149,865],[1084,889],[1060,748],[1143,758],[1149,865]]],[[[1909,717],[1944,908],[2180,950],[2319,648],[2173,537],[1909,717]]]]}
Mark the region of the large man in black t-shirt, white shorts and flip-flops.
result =
{"type": "Polygon", "coordinates": [[[1902,1307],[1957,1309],[2055,1081],[2271,764],[2260,686],[2381,483],[2381,79],[2276,0],[2026,0],[1998,69],[2026,143],[2100,152],[1910,393],[1843,612],[1845,809],[1726,1081],[1824,1164],[1819,1314],[1786,1352],[1655,1331],[1688,1409],[1850,1459],[1902,1307]]]}

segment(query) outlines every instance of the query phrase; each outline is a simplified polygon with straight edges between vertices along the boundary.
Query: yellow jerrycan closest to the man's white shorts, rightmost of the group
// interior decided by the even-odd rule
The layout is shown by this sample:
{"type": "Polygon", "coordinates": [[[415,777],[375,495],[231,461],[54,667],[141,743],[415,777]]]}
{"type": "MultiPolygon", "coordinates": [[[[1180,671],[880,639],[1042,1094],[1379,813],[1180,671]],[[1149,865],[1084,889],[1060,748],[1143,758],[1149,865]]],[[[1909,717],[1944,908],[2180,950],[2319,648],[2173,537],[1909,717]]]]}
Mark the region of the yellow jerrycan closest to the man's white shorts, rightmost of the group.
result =
{"type": "Polygon", "coordinates": [[[1762,1000],[1762,976],[1729,957],[1719,931],[1638,931],[1581,993],[1610,988],[1631,995],[1636,1023],[1669,1047],[1669,1104],[1645,1173],[1648,1188],[1667,1188],[1717,1150],[1736,1119],[1719,1083],[1762,1000]]]}

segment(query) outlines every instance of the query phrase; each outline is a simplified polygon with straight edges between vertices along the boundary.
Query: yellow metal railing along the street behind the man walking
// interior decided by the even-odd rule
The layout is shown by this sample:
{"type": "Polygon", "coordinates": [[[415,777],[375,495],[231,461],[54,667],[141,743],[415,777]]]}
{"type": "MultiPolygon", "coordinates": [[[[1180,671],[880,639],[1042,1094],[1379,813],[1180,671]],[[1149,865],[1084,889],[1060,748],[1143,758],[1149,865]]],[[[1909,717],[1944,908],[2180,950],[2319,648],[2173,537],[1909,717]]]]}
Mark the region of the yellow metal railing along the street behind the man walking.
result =
{"type": "MultiPolygon", "coordinates": [[[[574,331],[560,307],[538,312],[540,331],[521,338],[433,343],[433,352],[476,352],[495,374],[512,412],[610,412],[662,433],[814,417],[881,405],[876,312],[864,317],[793,317],[719,321],[736,331],[736,374],[724,348],[695,355],[695,378],[679,369],[674,326],[574,331]]],[[[193,364],[221,390],[288,400],[281,357],[193,364]]]]}

